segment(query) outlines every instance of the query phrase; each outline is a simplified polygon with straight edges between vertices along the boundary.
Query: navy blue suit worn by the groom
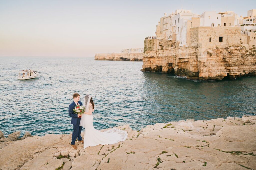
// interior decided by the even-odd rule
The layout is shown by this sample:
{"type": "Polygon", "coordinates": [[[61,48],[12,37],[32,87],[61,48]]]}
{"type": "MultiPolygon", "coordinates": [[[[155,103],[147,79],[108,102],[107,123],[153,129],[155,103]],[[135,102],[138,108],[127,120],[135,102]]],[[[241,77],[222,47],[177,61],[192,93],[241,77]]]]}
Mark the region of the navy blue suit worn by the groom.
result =
{"type": "MultiPolygon", "coordinates": [[[[79,103],[80,106],[82,106],[81,101],[78,101],[78,103],[79,103]]],[[[79,126],[81,118],[78,118],[77,114],[74,114],[73,109],[75,107],[76,107],[76,103],[74,101],[68,107],[68,114],[71,117],[71,124],[73,124],[73,133],[72,133],[71,145],[74,145],[77,139],[79,141],[82,140],[82,137],[81,137],[82,126],[79,126]]]]}

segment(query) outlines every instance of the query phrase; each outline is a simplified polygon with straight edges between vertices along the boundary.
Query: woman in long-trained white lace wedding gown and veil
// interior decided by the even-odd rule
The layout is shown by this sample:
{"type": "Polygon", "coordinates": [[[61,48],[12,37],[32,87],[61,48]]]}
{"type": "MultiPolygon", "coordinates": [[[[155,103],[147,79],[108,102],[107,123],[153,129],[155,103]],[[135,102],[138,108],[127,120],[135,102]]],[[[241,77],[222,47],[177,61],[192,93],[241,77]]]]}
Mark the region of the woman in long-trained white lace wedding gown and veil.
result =
{"type": "Polygon", "coordinates": [[[85,112],[82,115],[80,126],[85,128],[84,131],[84,145],[83,148],[88,146],[96,145],[108,145],[124,141],[127,138],[127,132],[112,128],[110,130],[101,132],[93,127],[93,116],[94,103],[91,95],[86,95],[84,97],[83,106],[85,107],[85,112]]]}

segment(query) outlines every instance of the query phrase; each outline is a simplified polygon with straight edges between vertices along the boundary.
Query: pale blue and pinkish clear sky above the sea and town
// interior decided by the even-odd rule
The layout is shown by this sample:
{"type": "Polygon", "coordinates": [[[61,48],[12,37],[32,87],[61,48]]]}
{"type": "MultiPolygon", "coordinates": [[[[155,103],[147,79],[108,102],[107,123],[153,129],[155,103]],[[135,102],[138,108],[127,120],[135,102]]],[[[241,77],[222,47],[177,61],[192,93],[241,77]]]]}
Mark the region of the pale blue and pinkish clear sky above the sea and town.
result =
{"type": "Polygon", "coordinates": [[[247,16],[256,1],[0,0],[0,56],[93,57],[143,48],[164,13],[176,9],[247,16]]]}

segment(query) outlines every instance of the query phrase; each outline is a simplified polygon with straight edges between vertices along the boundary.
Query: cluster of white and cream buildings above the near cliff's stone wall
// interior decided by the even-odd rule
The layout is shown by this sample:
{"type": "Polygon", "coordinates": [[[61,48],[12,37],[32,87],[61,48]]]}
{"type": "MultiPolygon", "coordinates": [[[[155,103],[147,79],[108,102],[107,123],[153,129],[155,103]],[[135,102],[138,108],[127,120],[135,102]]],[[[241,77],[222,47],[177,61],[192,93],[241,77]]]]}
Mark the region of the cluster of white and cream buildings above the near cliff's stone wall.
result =
{"type": "Polygon", "coordinates": [[[255,31],[256,9],[248,11],[248,17],[238,17],[233,11],[205,11],[201,15],[191,10],[177,9],[172,14],[165,13],[156,26],[156,38],[174,40],[179,46],[187,46],[187,36],[193,27],[241,27],[243,33],[255,31]],[[254,17],[253,17],[254,16],[254,17]],[[244,23],[244,26],[242,26],[244,23]],[[241,25],[241,26],[240,26],[241,25]]]}

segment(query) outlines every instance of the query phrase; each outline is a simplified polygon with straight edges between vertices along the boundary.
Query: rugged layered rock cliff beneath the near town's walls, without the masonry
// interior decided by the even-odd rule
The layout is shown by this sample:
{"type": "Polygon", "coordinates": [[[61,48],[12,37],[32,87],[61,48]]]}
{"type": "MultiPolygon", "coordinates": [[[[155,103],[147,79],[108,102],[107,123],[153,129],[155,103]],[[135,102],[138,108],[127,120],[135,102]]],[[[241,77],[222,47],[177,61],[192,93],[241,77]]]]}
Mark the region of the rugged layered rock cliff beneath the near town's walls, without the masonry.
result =
{"type": "Polygon", "coordinates": [[[168,40],[145,40],[142,71],[172,73],[189,79],[221,80],[256,75],[256,50],[243,46],[175,47],[168,40]],[[160,49],[156,49],[159,43],[160,49]],[[171,47],[173,46],[173,47],[171,47]]]}

